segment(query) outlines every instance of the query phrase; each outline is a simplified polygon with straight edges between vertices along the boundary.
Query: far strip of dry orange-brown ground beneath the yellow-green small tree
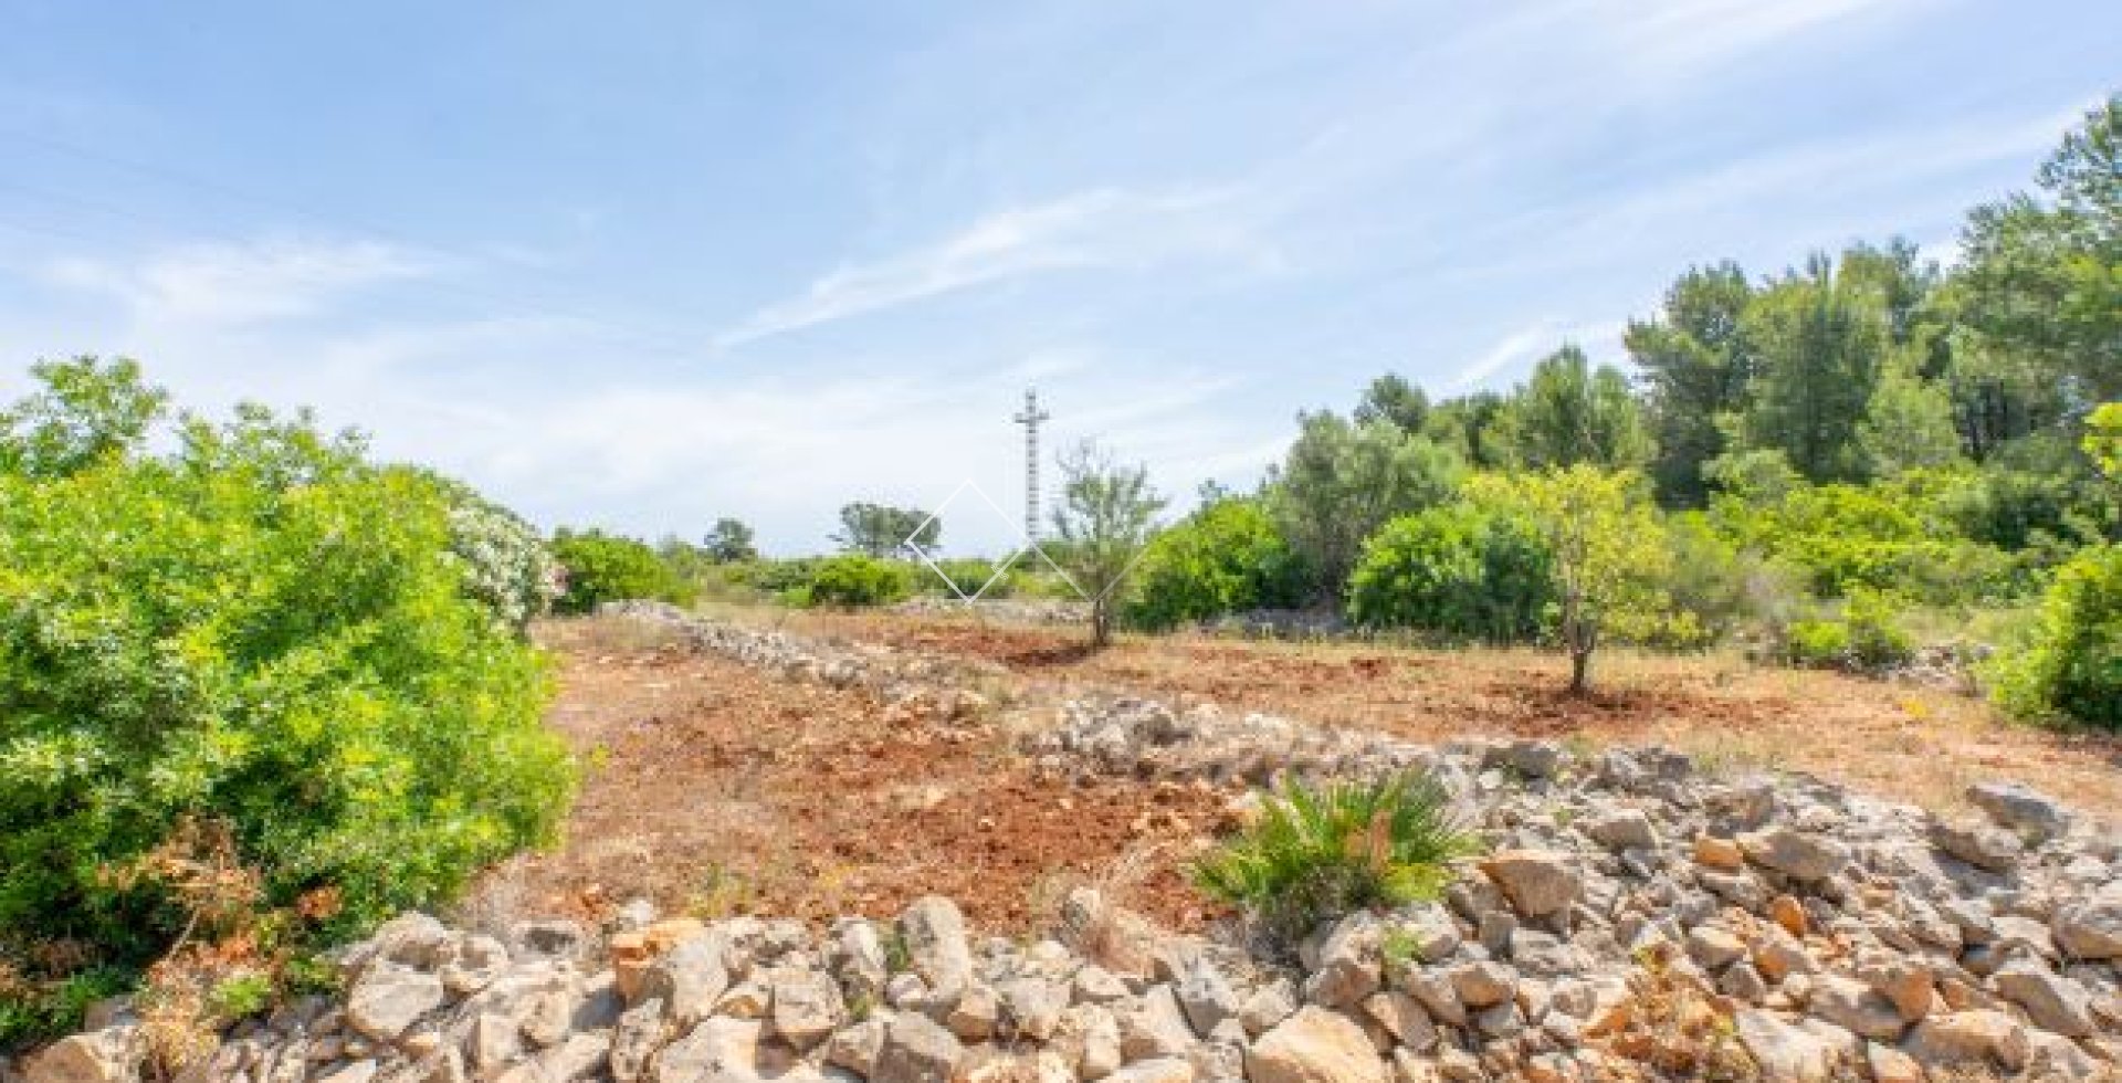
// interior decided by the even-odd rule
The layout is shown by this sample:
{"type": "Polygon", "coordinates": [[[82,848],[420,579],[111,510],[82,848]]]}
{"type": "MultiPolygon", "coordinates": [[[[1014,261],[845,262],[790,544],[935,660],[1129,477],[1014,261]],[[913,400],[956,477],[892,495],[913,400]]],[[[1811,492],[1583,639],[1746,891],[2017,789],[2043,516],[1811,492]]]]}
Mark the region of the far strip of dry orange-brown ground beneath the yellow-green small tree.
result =
{"type": "Polygon", "coordinates": [[[1810,771],[1935,811],[1969,781],[2012,777],[2122,820],[2122,741],[2014,726],[1980,699],[1725,656],[1604,652],[1598,692],[1564,692],[1566,660],[1532,650],[1409,650],[1199,635],[1123,637],[976,616],[736,612],[902,650],[978,656],[1053,688],[1110,686],[1422,741],[1547,737],[1683,747],[1710,767],[1810,771]]]}

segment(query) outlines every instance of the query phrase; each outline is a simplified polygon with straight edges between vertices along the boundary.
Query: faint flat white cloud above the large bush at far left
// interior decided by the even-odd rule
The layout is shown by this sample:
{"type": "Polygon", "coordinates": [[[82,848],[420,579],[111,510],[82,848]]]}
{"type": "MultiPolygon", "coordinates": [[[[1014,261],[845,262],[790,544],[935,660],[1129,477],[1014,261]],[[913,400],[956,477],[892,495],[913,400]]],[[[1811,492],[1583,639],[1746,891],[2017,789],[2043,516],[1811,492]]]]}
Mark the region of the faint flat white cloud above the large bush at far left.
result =
{"type": "Polygon", "coordinates": [[[382,242],[265,240],[187,244],[144,261],[66,257],[53,285],[121,299],[149,325],[244,325],[308,316],[344,295],[435,272],[435,261],[382,242]]]}

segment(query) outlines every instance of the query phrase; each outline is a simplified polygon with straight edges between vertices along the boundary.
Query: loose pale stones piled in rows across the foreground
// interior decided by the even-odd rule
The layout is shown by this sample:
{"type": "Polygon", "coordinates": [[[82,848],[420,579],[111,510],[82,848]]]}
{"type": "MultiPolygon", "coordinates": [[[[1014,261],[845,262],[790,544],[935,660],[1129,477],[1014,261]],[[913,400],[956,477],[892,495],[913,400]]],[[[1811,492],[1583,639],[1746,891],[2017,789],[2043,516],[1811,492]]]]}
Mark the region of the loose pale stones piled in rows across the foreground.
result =
{"type": "MultiPolygon", "coordinates": [[[[643,607],[694,650],[885,701],[980,694],[978,665],[643,607]]],[[[2122,1077],[2122,830],[2012,781],[1940,818],[1664,747],[1422,745],[1265,714],[1084,697],[1016,718],[1029,771],[1216,786],[1422,767],[1488,841],[1439,902],[1358,913],[1294,958],[1165,932],[1093,888],[1048,936],[889,917],[520,922],[405,915],[346,994],[231,1032],[197,1079],[2122,1077]]],[[[1243,815],[1256,796],[1231,803],[1243,815]]],[[[879,824],[889,832],[891,824],[879,824]]],[[[123,1004],[19,1068],[132,1079],[123,1004]]]]}

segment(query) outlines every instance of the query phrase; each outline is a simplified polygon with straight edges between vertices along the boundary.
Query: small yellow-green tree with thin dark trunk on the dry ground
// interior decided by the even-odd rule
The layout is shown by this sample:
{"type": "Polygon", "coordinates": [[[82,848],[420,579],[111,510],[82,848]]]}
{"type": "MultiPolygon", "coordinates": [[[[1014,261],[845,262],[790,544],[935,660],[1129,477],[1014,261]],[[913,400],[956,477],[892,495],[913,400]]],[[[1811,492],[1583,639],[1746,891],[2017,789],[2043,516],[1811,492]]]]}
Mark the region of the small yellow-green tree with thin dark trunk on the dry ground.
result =
{"type": "Polygon", "coordinates": [[[1483,476],[1477,495],[1515,508],[1553,552],[1555,639],[1570,652],[1570,692],[1585,692],[1606,633],[1645,639],[1674,620],[1662,586],[1672,567],[1642,476],[1589,465],[1483,476]]]}

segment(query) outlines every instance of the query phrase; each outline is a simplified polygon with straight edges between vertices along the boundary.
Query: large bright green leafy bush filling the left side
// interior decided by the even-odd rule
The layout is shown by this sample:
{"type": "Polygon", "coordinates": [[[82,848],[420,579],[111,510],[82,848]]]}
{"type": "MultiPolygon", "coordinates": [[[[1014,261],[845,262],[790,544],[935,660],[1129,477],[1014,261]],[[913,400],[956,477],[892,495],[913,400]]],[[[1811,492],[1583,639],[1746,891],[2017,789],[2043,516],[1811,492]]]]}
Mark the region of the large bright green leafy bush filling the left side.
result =
{"type": "Polygon", "coordinates": [[[473,601],[450,491],[261,408],[76,465],[0,474],[0,939],[153,958],[182,907],[108,873],[193,815],[340,928],[552,837],[547,673],[473,601]]]}

